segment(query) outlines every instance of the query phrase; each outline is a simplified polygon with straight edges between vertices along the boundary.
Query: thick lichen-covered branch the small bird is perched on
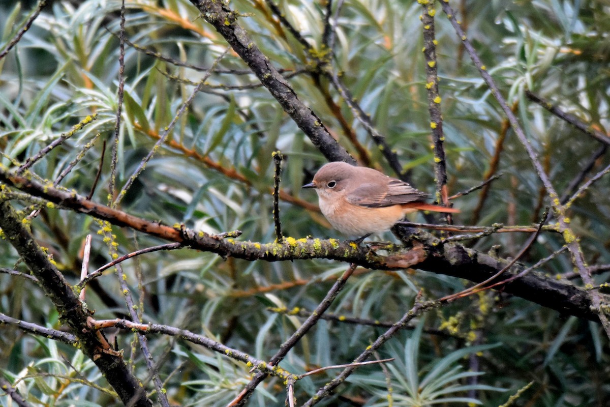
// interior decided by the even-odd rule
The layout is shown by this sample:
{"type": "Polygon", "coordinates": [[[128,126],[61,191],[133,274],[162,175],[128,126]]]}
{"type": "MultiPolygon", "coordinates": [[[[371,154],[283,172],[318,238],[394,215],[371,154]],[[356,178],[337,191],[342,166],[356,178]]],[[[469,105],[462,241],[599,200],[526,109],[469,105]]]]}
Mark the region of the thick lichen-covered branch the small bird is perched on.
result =
{"type": "MultiPolygon", "coordinates": [[[[412,229],[396,226],[399,236],[416,240],[412,248],[392,248],[387,256],[373,250],[357,246],[353,242],[336,239],[321,240],[307,237],[293,239],[285,237],[282,243],[242,242],[224,239],[223,236],[196,232],[187,228],[173,228],[152,222],[107,206],[86,200],[74,192],[59,190],[42,185],[37,181],[10,173],[0,167],[0,181],[6,182],[24,192],[39,196],[54,204],[81,212],[113,225],[126,226],[164,240],[181,242],[196,250],[210,251],[223,257],[234,257],[248,261],[285,261],[296,259],[325,258],[356,263],[376,270],[393,270],[414,267],[433,273],[465,278],[475,283],[485,281],[501,270],[508,261],[466,248],[457,243],[443,243],[430,234],[420,231],[412,235],[412,229]]],[[[523,269],[515,265],[497,281],[508,279],[523,269]]],[[[583,289],[562,281],[529,273],[522,278],[502,286],[506,293],[517,295],[559,312],[598,321],[598,314],[592,311],[589,295],[583,289]]]]}

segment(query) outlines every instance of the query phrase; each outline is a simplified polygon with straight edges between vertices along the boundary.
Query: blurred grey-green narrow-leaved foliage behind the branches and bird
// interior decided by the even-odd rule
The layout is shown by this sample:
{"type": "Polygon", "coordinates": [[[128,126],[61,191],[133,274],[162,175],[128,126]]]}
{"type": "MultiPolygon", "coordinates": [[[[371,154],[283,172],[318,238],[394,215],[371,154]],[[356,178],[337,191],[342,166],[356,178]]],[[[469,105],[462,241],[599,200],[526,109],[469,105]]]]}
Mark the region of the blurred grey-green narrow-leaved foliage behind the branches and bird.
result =
{"type": "MultiPolygon", "coordinates": [[[[325,2],[275,3],[312,49],[323,55],[325,2]]],[[[610,5],[597,1],[452,2],[487,70],[518,113],[530,142],[559,192],[608,165],[603,145],[528,101],[525,90],[558,104],[592,128],[608,126],[610,5]],[[590,164],[590,170],[584,168],[590,164]]],[[[332,135],[362,163],[392,174],[379,148],[324,77],[316,76],[310,54],[259,0],[235,0],[239,23],[276,68],[281,68],[301,101],[317,113],[332,135]],[[349,133],[362,145],[350,141],[349,133]],[[365,153],[362,153],[362,150],[365,153]]],[[[2,48],[15,36],[34,2],[0,5],[2,48]]],[[[87,115],[97,120],[76,132],[32,167],[56,179],[83,146],[95,144],[60,183],[87,195],[102,154],[101,177],[92,199],[108,203],[110,156],[118,106],[121,2],[49,2],[12,51],[0,60],[0,148],[2,164],[24,162],[87,115]],[[105,141],[105,142],[104,142],[105,141]]],[[[331,5],[336,10],[337,4],[331,5]]],[[[346,0],[336,21],[331,67],[395,149],[409,179],[434,193],[430,118],[422,53],[422,6],[405,0],[346,0]]],[[[193,90],[192,82],[227,49],[226,41],[185,0],[127,0],[124,105],[118,137],[120,189],[157,142],[193,90]],[[146,52],[145,52],[146,50],[146,52]],[[180,62],[180,63],[178,63],[180,62]],[[190,82],[188,82],[190,81],[190,82]]],[[[487,196],[470,193],[454,201],[465,225],[531,225],[548,198],[525,150],[473,67],[447,18],[436,16],[440,95],[450,195],[504,175],[487,196]],[[493,163],[497,163],[494,168],[493,163]]],[[[306,135],[246,65],[229,51],[206,79],[206,87],[156,150],[120,209],[167,225],[184,223],[206,232],[239,229],[240,239],[272,242],[272,151],[285,155],[280,203],[284,233],[340,237],[307,203],[317,197],[300,186],[325,163],[306,135]]],[[[572,225],[590,264],[608,263],[610,184],[602,178],[570,208],[572,225]]],[[[14,203],[17,204],[17,203],[14,203]]],[[[29,203],[23,201],[20,207],[29,203]]],[[[412,220],[423,220],[415,215],[412,220]]],[[[70,211],[43,209],[32,232],[48,248],[71,283],[77,283],[82,245],[93,234],[91,270],[110,261],[109,247],[95,220],[70,211]]],[[[120,254],[158,245],[159,239],[113,228],[120,254]]],[[[493,235],[469,245],[501,257],[514,256],[526,234],[493,235]]],[[[343,238],[343,237],[342,237],[343,238]]],[[[393,240],[388,234],[382,239],[393,240]]],[[[542,234],[524,264],[534,264],[562,247],[542,234]]],[[[2,267],[24,271],[7,243],[2,267]]],[[[273,355],[303,321],[268,306],[314,309],[347,264],[314,260],[268,263],[223,259],[188,249],[149,253],[123,264],[128,283],[142,303],[143,322],[206,334],[260,359],[273,355]]],[[[571,273],[562,254],[544,265],[549,276],[571,273]]],[[[596,276],[603,283],[608,273],[596,276]]],[[[87,291],[96,318],[125,314],[112,272],[87,291]]],[[[578,284],[579,280],[576,279],[578,284]]],[[[468,283],[433,273],[357,270],[332,314],[394,322],[411,308],[418,291],[425,298],[456,292],[468,283]]],[[[60,328],[57,311],[31,281],[0,275],[0,308],[12,317],[60,328]]],[[[393,357],[382,369],[362,367],[324,405],[426,406],[464,403],[498,406],[533,382],[516,405],[605,406],[610,403],[608,340],[597,324],[503,295],[483,292],[428,312],[415,326],[379,352],[393,357]],[[440,367],[439,367],[440,366],[440,367]],[[437,369],[436,369],[437,367],[437,369]],[[481,372],[479,375],[475,372],[481,372]],[[389,391],[391,383],[391,391],[389,391]],[[390,393],[390,401],[388,394],[390,393]]],[[[384,328],[321,320],[282,362],[293,373],[350,362],[384,328]]],[[[135,374],[146,368],[134,337],[107,332],[124,349],[135,374]]],[[[114,340],[114,339],[112,339],[114,340]]],[[[251,373],[234,362],[173,337],[149,337],[154,360],[176,405],[223,406],[248,383],[251,373]]],[[[107,387],[87,358],[64,344],[0,326],[0,368],[32,405],[115,405],[116,398],[87,383],[107,387]],[[81,379],[87,382],[80,381],[81,379]]],[[[306,400],[334,377],[332,370],[299,381],[306,400]]],[[[284,405],[284,385],[268,378],[249,405],[284,405]]],[[[0,405],[9,406],[6,395],[0,405]]]]}

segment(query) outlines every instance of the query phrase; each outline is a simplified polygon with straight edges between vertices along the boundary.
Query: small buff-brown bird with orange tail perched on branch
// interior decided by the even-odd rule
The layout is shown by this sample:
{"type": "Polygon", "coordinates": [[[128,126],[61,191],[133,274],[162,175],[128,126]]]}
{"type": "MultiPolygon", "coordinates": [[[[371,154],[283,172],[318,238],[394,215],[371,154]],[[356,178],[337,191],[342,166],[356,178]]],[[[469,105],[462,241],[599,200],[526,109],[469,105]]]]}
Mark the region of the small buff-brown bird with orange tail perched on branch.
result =
{"type": "Polygon", "coordinates": [[[303,188],[314,188],[322,214],[332,227],[348,236],[390,230],[404,215],[415,211],[459,212],[459,209],[425,203],[427,194],[407,182],[377,170],[346,162],[329,162],[303,188]]]}

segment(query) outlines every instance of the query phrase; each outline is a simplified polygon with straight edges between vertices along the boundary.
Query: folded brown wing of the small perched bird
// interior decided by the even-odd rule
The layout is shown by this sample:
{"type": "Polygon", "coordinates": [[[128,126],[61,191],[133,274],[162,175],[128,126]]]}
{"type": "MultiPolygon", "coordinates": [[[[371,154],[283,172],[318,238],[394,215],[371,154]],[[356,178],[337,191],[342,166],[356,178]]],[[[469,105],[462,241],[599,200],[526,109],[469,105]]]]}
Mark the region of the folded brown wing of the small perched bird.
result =
{"type": "Polygon", "coordinates": [[[384,207],[423,201],[428,196],[399,179],[390,178],[386,185],[379,183],[361,184],[348,193],[347,200],[360,206],[384,207]]]}

